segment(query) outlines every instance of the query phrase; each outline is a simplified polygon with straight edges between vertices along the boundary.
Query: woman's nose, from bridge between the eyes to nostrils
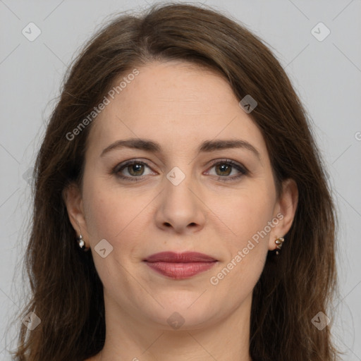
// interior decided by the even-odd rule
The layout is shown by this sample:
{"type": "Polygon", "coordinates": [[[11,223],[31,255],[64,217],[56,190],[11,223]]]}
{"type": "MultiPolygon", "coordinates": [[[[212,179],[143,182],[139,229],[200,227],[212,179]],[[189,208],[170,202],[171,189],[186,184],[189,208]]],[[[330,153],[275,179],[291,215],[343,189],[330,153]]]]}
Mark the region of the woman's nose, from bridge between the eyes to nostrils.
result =
{"type": "Polygon", "coordinates": [[[159,196],[155,216],[157,226],[173,233],[200,231],[204,227],[206,209],[199,187],[191,176],[184,178],[177,169],[174,173],[169,172],[168,177],[164,178],[164,190],[159,196]],[[180,183],[179,177],[183,178],[180,183]]]}

